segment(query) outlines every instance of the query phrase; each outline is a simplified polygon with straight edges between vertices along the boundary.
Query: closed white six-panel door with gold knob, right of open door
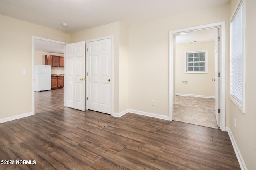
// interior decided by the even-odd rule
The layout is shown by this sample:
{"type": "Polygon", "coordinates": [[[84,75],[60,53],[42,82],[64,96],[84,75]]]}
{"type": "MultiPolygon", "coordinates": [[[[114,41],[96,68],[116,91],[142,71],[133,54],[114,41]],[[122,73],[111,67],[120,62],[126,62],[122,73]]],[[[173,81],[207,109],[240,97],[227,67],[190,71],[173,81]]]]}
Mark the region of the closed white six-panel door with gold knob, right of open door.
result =
{"type": "Polygon", "coordinates": [[[112,114],[112,39],[86,43],[87,109],[112,114]]]}

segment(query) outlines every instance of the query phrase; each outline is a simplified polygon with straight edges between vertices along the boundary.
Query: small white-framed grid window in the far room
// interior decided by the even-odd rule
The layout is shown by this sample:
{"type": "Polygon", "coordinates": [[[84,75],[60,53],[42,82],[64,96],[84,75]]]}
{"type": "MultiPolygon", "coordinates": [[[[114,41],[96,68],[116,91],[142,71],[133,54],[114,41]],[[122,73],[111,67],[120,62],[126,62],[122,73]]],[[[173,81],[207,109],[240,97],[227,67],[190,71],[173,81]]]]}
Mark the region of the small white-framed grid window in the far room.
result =
{"type": "Polygon", "coordinates": [[[207,50],[187,51],[185,54],[186,73],[207,73],[207,50]]]}

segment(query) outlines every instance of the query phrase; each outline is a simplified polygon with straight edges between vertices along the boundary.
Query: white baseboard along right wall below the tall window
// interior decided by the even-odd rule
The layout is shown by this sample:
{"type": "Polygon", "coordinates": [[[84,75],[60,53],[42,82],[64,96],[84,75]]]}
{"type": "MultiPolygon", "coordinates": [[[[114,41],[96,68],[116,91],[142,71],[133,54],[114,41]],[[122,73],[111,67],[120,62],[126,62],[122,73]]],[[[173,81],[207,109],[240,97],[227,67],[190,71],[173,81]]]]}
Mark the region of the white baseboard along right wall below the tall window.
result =
{"type": "Polygon", "coordinates": [[[242,158],[242,154],[241,154],[241,152],[240,152],[240,150],[239,150],[239,148],[236,144],[236,140],[235,140],[235,138],[232,134],[232,131],[228,127],[226,127],[226,131],[228,132],[228,135],[230,137],[230,141],[233,145],[233,148],[234,148],[234,151],[236,153],[236,157],[237,157],[237,160],[239,162],[241,170],[247,170],[246,164],[244,163],[244,159],[242,158]]]}

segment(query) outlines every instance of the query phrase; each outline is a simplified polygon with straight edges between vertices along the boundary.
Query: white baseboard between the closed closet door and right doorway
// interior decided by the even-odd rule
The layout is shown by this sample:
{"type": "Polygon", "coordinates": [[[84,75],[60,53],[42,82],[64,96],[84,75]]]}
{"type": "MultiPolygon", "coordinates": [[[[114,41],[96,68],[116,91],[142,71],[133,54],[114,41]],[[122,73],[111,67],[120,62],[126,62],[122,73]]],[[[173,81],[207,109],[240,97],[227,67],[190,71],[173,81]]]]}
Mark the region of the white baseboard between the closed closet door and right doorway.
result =
{"type": "Polygon", "coordinates": [[[154,117],[154,118],[158,118],[158,119],[169,120],[168,116],[158,115],[158,114],[154,114],[154,113],[148,113],[148,112],[144,112],[144,111],[132,110],[132,109],[127,109],[125,111],[122,111],[121,113],[113,113],[112,116],[122,117],[126,113],[134,113],[137,115],[143,115],[143,116],[154,117]]]}

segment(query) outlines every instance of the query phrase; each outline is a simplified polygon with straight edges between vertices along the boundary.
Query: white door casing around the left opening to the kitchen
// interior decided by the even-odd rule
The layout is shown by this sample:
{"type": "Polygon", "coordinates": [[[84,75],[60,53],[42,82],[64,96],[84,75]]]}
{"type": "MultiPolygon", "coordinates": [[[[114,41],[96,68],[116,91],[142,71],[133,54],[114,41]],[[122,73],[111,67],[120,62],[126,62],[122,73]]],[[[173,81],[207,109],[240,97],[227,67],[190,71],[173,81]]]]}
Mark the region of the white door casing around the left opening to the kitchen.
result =
{"type": "Polygon", "coordinates": [[[32,36],[32,115],[35,114],[35,93],[34,93],[34,79],[35,79],[35,40],[41,40],[41,41],[48,41],[51,43],[57,43],[57,44],[61,44],[61,45],[66,45],[68,43],[65,42],[61,42],[61,41],[55,41],[52,39],[46,39],[46,38],[42,38],[42,37],[36,37],[36,36],[32,36]]]}

